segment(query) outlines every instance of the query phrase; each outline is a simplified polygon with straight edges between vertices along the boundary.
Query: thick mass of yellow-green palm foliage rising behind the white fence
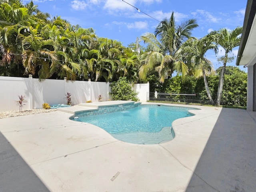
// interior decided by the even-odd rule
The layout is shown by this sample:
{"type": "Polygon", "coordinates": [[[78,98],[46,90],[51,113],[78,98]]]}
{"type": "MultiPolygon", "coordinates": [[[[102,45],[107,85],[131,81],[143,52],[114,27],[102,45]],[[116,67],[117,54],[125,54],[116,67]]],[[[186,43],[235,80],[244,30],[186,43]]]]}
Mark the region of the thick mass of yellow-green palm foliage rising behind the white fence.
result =
{"type": "Polygon", "coordinates": [[[136,52],[92,28],[73,26],[38,10],[33,2],[0,1],[0,75],[67,80],[138,81],[136,52]]]}

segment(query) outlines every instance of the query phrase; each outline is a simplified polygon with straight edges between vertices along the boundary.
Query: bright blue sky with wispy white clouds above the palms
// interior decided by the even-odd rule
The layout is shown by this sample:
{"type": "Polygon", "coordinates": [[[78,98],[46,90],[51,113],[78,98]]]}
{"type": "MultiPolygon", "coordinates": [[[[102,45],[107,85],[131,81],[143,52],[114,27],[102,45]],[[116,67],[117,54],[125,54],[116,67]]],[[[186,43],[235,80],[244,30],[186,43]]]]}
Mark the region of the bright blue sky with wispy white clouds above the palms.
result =
{"type": "MultiPolygon", "coordinates": [[[[83,28],[94,28],[99,37],[122,42],[124,46],[135,42],[145,32],[154,32],[158,21],[170,18],[172,11],[177,24],[195,18],[199,27],[193,30],[192,36],[201,38],[211,30],[227,28],[233,30],[242,26],[246,0],[125,0],[149,16],[138,12],[122,0],[34,0],[39,10],[48,12],[52,17],[61,16],[71,24],[83,28]],[[158,20],[158,21],[157,21],[158,20]]],[[[23,0],[25,4],[28,0],[23,0]]],[[[140,43],[143,45],[143,43],[140,43]]],[[[220,48],[221,49],[221,48],[220,48]]],[[[234,48],[230,56],[238,53],[234,48]]],[[[218,56],[222,56],[219,51],[218,56]]],[[[218,68],[213,51],[206,57],[218,68]]],[[[235,66],[235,60],[228,65],[235,66]]],[[[242,70],[244,68],[240,67],[242,70]]]]}

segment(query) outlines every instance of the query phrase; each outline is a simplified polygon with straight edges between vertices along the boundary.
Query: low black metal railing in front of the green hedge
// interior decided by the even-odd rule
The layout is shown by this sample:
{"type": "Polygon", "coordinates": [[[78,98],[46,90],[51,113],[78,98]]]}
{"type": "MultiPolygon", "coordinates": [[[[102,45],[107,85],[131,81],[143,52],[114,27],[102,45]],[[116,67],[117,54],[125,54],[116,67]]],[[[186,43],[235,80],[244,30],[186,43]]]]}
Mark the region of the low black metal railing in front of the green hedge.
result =
{"type": "MultiPolygon", "coordinates": [[[[196,93],[149,93],[150,101],[168,102],[174,104],[193,104],[193,105],[217,105],[217,94],[212,94],[212,100],[204,94],[196,93]]],[[[230,108],[246,108],[246,96],[243,94],[222,95],[220,106],[230,108]]]]}

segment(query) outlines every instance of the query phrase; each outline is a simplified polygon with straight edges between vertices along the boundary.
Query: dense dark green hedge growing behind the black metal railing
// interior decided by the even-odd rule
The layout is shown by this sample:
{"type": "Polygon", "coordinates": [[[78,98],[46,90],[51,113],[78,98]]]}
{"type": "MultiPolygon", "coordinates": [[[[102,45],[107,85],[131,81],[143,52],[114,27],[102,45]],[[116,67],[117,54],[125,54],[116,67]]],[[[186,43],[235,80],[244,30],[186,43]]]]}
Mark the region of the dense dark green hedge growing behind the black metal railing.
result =
{"type": "MultiPolygon", "coordinates": [[[[216,74],[207,76],[209,90],[212,94],[212,99],[217,99],[218,79],[221,68],[216,70],[216,74]]],[[[157,91],[159,93],[173,94],[191,94],[196,93],[198,99],[208,100],[208,95],[204,85],[204,78],[195,76],[186,76],[182,82],[180,76],[175,76],[167,79],[163,84],[160,84],[156,78],[148,78],[150,82],[150,92],[157,91]]],[[[245,106],[246,107],[246,92],[247,92],[247,74],[238,67],[226,66],[225,81],[220,104],[227,106],[245,106]]]]}

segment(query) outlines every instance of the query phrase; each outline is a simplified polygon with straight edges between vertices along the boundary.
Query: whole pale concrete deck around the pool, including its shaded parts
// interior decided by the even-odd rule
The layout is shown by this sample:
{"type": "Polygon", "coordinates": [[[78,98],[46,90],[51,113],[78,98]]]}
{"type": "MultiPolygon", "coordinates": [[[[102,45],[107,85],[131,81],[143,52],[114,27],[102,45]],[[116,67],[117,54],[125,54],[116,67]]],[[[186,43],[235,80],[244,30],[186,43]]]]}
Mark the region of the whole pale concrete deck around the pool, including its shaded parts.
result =
{"type": "Polygon", "coordinates": [[[0,119],[0,191],[255,191],[256,112],[185,107],[201,110],[173,122],[174,140],[152,145],[69,119],[92,106],[0,119]]]}

